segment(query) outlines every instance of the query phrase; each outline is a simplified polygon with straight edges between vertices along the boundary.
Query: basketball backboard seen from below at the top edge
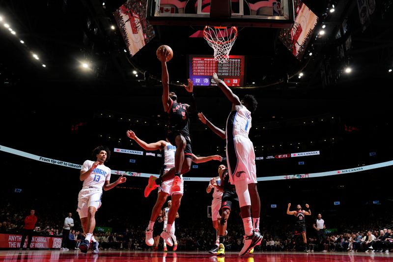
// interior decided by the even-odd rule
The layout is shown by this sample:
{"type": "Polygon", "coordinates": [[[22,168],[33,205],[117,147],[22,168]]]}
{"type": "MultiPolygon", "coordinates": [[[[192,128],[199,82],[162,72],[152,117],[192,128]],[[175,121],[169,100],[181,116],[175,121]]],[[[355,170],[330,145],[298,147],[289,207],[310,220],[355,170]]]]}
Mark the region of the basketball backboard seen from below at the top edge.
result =
{"type": "Polygon", "coordinates": [[[293,0],[231,1],[229,17],[211,15],[211,3],[222,0],[147,0],[150,25],[290,28],[294,23],[293,0]]]}

